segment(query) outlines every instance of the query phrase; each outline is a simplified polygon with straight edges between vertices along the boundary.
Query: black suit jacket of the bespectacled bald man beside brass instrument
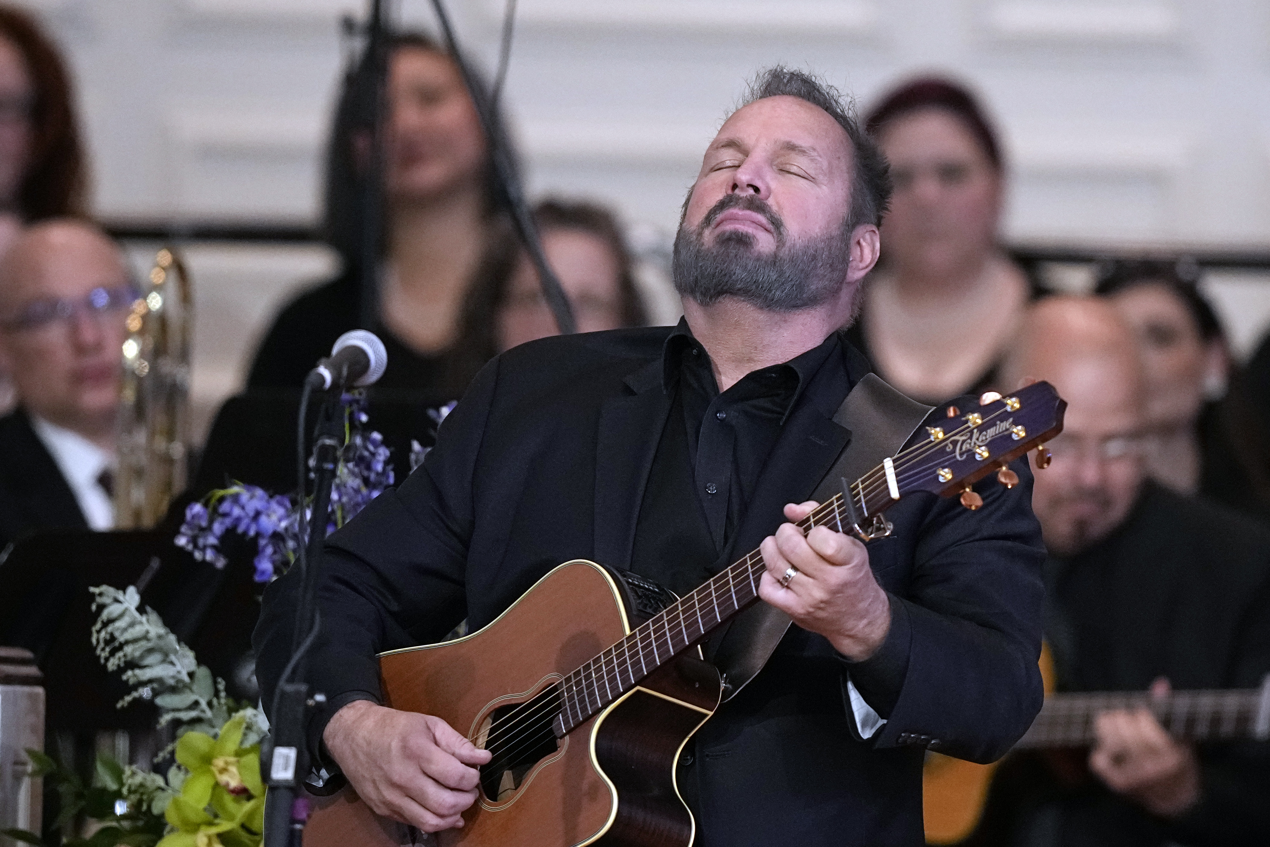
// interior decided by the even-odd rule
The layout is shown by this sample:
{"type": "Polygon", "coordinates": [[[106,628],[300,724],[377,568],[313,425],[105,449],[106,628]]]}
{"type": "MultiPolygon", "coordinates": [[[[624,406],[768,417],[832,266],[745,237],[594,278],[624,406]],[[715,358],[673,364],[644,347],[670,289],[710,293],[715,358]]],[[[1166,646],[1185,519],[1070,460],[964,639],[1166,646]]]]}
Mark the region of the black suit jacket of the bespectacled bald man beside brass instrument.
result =
{"type": "Polygon", "coordinates": [[[22,409],[0,418],[0,549],[41,530],[88,530],[71,486],[22,409]]]}

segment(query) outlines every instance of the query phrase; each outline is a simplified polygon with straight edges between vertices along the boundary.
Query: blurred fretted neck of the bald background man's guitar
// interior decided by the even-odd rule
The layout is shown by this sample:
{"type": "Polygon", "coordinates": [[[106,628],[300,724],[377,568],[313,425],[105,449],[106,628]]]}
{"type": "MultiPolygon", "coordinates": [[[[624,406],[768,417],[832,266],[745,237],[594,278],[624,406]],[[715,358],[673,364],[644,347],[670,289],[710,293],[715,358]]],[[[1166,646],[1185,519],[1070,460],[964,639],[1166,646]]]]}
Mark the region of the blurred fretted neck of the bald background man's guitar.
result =
{"type": "Polygon", "coordinates": [[[1052,695],[1016,748],[1090,747],[1105,711],[1147,709],[1173,738],[1196,742],[1270,737],[1270,684],[1261,691],[1175,691],[1052,695]]]}

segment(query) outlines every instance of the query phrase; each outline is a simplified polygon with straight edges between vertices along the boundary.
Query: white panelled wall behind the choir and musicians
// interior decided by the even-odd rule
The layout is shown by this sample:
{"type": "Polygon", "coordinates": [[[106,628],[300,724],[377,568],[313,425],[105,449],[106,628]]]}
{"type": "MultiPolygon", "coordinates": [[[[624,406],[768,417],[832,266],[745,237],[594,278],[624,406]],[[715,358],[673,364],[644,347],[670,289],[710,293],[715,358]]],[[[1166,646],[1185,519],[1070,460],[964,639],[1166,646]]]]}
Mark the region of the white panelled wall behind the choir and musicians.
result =
{"type": "MultiPolygon", "coordinates": [[[[76,71],[103,216],[314,218],[337,20],[363,0],[28,5],[76,71]]],[[[503,1],[447,5],[491,65],[503,1]]],[[[431,23],[423,0],[403,17],[431,23]]],[[[917,70],[972,83],[1007,138],[1012,239],[1270,249],[1264,0],[519,0],[507,100],[532,192],[672,231],[743,80],[777,61],[865,103],[917,70]]],[[[264,315],[297,262],[288,274],[262,259],[272,286],[236,272],[203,284],[264,315]]],[[[1219,301],[1246,344],[1270,287],[1233,284],[1219,301]]]]}

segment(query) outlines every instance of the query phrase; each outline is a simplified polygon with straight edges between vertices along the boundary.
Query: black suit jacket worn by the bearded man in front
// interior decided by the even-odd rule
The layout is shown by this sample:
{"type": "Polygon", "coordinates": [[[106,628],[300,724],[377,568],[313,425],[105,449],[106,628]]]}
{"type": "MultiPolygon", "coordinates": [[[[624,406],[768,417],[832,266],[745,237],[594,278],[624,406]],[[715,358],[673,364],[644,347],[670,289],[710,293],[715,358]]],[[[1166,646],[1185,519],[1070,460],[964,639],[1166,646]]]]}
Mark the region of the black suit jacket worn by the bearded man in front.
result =
{"type": "MultiPolygon", "coordinates": [[[[668,328],[544,339],[485,367],[441,428],[427,462],[335,533],[319,597],[324,634],[311,662],[335,710],[378,697],[376,650],[442,639],[466,617],[491,621],[555,565],[631,563],[635,521],[671,396],[668,328]]],[[[864,376],[845,348],[848,373],[864,376]]],[[[826,370],[827,371],[827,370],[826,370]]],[[[824,371],[822,371],[822,375],[824,371]]],[[[819,377],[818,377],[819,378],[819,377]]],[[[842,397],[808,391],[790,413],[735,533],[743,554],[808,499],[851,433],[842,397]]],[[[893,537],[871,565],[892,592],[884,650],[907,676],[872,739],[852,734],[850,665],[823,637],[791,627],[767,668],[702,730],[695,761],[700,844],[922,843],[925,749],[988,761],[1040,707],[1043,560],[1031,477],[982,489],[986,505],[914,495],[888,514],[893,537]]],[[[255,643],[271,693],[291,646],[297,580],[265,593],[255,643]]],[[[682,778],[682,777],[681,777],[682,778]]]]}

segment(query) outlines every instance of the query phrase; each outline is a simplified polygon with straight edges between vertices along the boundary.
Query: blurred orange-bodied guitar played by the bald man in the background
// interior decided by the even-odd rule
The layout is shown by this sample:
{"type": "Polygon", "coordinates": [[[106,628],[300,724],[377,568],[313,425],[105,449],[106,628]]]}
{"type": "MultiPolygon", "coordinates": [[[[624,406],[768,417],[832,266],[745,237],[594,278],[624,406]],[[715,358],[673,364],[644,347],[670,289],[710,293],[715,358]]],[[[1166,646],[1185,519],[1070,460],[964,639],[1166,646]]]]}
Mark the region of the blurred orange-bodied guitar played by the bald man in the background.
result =
{"type": "MultiPolygon", "coordinates": [[[[1093,747],[1093,724],[1105,711],[1148,709],[1176,739],[1231,742],[1270,739],[1270,676],[1261,688],[1173,691],[1163,697],[1146,692],[1104,691],[1049,695],[1053,669],[1041,657],[1046,678],[1045,705],[1013,749],[1093,747]]],[[[928,753],[922,771],[926,842],[955,844],[974,833],[983,818],[997,763],[975,764],[928,753]]]]}

